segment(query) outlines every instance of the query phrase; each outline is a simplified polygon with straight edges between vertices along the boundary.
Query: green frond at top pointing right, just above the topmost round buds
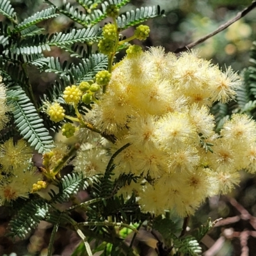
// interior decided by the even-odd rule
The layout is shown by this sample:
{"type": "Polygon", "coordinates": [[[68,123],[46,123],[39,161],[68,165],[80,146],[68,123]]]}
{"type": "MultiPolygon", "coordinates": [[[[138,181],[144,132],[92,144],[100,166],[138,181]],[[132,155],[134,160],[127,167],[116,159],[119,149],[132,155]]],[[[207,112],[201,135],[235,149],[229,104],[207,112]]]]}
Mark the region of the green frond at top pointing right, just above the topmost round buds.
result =
{"type": "Polygon", "coordinates": [[[124,30],[132,26],[136,26],[141,22],[156,17],[163,17],[164,10],[160,10],[159,6],[146,6],[137,8],[136,11],[131,10],[117,18],[118,26],[124,30]]]}

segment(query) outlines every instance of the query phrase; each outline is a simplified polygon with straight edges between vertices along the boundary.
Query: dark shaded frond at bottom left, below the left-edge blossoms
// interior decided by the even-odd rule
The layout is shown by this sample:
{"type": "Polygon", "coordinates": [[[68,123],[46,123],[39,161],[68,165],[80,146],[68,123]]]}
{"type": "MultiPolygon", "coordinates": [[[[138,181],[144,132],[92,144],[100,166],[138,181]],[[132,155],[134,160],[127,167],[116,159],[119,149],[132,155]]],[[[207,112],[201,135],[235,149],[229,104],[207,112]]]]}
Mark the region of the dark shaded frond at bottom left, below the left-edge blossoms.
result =
{"type": "Polygon", "coordinates": [[[32,198],[19,210],[17,218],[10,221],[8,236],[24,239],[38,223],[45,220],[51,205],[42,198],[32,198]]]}

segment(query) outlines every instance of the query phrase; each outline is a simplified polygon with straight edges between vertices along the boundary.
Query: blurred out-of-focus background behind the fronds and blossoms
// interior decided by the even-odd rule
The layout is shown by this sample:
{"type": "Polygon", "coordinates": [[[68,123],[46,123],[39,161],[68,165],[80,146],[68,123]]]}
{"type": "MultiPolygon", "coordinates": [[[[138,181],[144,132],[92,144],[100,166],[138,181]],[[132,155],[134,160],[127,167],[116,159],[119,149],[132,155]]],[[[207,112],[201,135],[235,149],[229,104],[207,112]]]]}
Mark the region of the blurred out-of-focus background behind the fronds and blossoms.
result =
{"type": "MultiPolygon", "coordinates": [[[[79,8],[76,1],[70,0],[69,2],[79,8]]],[[[29,15],[47,8],[47,4],[42,0],[13,0],[11,3],[19,20],[26,19],[29,15]]],[[[62,1],[52,0],[52,3],[61,5],[62,1]]],[[[145,49],[162,45],[168,52],[175,51],[214,31],[251,3],[251,0],[134,0],[122,8],[121,12],[140,6],[159,4],[161,10],[165,10],[166,17],[148,20],[146,23],[151,29],[150,37],[145,42],[136,41],[135,43],[145,49]]],[[[0,21],[4,21],[1,15],[0,21]]],[[[40,26],[45,28],[45,33],[66,31],[72,27],[79,28],[79,24],[74,24],[72,20],[63,15],[42,22],[40,26]]],[[[129,29],[124,35],[129,36],[131,33],[132,30],[129,29]]],[[[222,68],[231,65],[240,73],[249,65],[250,47],[255,40],[256,9],[225,31],[196,46],[195,49],[198,49],[202,58],[218,63],[222,68]]],[[[72,61],[66,52],[54,47],[47,54],[59,56],[61,61],[72,61]]],[[[124,52],[121,52],[118,58],[122,58],[123,55],[124,52]]],[[[31,68],[29,76],[36,95],[44,93],[55,79],[54,74],[42,74],[40,79],[38,75],[36,69],[31,68]]],[[[202,246],[204,251],[207,251],[205,256],[256,255],[256,177],[243,172],[241,172],[241,177],[240,186],[230,195],[209,198],[191,218],[189,223],[191,229],[205,223],[209,217],[212,220],[228,218],[222,223],[220,221],[219,227],[214,228],[203,240],[202,246]]],[[[9,220],[8,209],[0,207],[0,255],[46,255],[51,225],[46,222],[41,223],[35,233],[28,236],[28,239],[13,244],[10,239],[4,237],[9,220]]],[[[154,250],[150,249],[149,240],[143,243],[147,246],[141,250],[141,255],[156,255],[154,250]]],[[[54,255],[71,255],[78,244],[79,239],[74,233],[60,229],[54,244],[54,255]]],[[[140,246],[144,248],[143,245],[140,244],[140,246]]]]}

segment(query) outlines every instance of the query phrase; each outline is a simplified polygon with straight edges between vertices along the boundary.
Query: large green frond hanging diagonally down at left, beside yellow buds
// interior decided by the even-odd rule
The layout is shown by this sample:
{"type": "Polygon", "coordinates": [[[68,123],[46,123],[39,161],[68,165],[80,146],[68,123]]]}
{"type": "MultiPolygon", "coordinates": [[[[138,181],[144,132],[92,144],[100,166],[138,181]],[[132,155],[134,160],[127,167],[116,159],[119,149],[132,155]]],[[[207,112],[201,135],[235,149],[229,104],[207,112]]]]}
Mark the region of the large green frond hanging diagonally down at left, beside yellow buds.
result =
{"type": "Polygon", "coordinates": [[[35,106],[29,97],[20,88],[7,92],[8,105],[12,106],[14,122],[20,134],[31,147],[39,153],[44,153],[53,148],[52,137],[44,127],[44,120],[38,115],[35,106]]]}

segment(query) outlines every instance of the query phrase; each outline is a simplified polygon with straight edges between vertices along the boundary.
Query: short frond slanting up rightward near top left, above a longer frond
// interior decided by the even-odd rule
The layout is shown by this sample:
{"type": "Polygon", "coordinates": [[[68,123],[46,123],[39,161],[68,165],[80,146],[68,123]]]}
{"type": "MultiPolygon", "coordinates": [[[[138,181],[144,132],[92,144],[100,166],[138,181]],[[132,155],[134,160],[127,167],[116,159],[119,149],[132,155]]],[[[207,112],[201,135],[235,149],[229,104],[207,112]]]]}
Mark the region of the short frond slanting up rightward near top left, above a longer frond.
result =
{"type": "Polygon", "coordinates": [[[13,32],[16,33],[22,31],[23,29],[29,28],[30,26],[33,26],[42,20],[55,18],[58,15],[59,14],[56,13],[56,8],[54,7],[42,10],[41,12],[36,12],[33,16],[28,17],[27,19],[24,19],[22,22],[20,22],[20,24],[18,24],[15,29],[13,29],[13,32]]]}

